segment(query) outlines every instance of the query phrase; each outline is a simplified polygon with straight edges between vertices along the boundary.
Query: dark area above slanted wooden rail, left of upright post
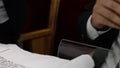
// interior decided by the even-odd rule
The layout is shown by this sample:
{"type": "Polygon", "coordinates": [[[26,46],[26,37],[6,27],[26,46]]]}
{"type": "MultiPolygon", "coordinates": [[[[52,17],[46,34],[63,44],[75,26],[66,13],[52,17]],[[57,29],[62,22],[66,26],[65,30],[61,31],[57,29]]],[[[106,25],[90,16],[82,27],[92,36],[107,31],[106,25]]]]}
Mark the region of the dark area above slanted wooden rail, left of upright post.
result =
{"type": "Polygon", "coordinates": [[[51,0],[26,0],[27,18],[22,33],[47,28],[51,0]]]}

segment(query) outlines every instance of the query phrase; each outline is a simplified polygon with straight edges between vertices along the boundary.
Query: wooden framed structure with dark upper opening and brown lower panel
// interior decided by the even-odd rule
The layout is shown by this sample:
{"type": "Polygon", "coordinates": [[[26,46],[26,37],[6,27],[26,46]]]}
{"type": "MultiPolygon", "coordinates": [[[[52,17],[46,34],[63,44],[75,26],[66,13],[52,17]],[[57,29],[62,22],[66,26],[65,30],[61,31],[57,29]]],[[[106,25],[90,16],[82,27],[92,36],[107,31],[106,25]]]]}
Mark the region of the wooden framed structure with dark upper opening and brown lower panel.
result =
{"type": "Polygon", "coordinates": [[[36,1],[28,0],[27,21],[20,40],[26,50],[52,54],[59,0],[36,1]]]}

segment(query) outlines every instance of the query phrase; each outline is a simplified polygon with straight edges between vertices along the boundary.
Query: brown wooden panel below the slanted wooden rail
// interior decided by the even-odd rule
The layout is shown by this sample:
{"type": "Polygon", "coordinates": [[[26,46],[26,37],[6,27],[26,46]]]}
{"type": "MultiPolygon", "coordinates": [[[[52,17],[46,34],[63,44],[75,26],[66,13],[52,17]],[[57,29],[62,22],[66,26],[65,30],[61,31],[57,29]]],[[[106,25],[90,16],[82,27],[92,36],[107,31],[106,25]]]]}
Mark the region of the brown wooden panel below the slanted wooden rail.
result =
{"type": "Polygon", "coordinates": [[[51,54],[51,37],[44,36],[31,40],[32,51],[40,54],[51,54]]]}

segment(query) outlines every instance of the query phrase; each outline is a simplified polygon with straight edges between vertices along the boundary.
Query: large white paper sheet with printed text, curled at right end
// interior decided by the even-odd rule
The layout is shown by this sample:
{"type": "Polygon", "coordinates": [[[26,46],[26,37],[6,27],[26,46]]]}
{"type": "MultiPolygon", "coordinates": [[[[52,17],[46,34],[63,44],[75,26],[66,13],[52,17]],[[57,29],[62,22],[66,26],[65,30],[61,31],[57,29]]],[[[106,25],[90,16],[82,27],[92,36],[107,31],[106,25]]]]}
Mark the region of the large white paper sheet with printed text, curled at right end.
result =
{"type": "Polygon", "coordinates": [[[1,49],[0,68],[88,68],[88,67],[93,68],[94,67],[94,62],[89,55],[82,55],[70,61],[50,55],[31,53],[19,48],[17,45],[14,44],[9,44],[9,45],[0,44],[0,49],[1,49]]]}

